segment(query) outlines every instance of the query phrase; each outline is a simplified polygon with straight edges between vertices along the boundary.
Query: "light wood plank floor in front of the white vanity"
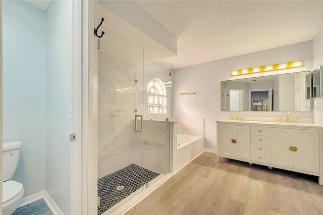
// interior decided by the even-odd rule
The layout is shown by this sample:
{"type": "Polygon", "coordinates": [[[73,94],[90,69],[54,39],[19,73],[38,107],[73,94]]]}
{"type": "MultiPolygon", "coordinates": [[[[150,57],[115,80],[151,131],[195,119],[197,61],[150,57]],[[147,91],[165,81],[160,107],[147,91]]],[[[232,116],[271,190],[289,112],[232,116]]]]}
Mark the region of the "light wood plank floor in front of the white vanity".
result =
{"type": "Polygon", "coordinates": [[[126,214],[323,214],[317,177],[203,152],[126,214]]]}

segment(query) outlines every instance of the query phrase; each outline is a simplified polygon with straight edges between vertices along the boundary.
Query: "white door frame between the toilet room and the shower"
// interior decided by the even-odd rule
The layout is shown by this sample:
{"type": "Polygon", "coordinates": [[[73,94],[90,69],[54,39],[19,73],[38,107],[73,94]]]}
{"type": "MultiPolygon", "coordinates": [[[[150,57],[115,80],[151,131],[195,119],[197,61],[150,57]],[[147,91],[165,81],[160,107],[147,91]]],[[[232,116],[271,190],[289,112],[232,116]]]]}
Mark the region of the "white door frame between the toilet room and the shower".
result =
{"type": "Polygon", "coordinates": [[[88,173],[88,2],[72,2],[71,214],[86,214],[88,173]],[[85,33],[86,32],[86,33],[85,33]]]}

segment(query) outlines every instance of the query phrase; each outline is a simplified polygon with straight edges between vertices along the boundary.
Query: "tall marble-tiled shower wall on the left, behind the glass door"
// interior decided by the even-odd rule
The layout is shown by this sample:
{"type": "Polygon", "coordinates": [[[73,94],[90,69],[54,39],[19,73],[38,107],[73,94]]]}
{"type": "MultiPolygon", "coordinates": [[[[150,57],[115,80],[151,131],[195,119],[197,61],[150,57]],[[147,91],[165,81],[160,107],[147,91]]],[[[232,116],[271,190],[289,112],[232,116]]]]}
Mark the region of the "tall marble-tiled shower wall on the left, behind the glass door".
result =
{"type": "MultiPolygon", "coordinates": [[[[137,66],[98,53],[98,178],[134,163],[137,66]],[[124,90],[129,88],[128,90],[124,90]]],[[[140,150],[142,151],[142,149],[140,150]]]]}

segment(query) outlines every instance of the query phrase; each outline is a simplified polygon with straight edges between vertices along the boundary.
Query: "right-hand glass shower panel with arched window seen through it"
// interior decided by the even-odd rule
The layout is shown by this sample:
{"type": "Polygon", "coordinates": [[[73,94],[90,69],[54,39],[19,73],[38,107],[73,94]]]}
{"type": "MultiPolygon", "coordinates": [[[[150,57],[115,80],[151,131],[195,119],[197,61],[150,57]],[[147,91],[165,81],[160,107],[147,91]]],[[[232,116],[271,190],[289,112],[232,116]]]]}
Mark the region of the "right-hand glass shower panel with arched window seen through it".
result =
{"type": "Polygon", "coordinates": [[[143,73],[143,167],[157,180],[170,171],[172,64],[145,52],[143,73]]]}

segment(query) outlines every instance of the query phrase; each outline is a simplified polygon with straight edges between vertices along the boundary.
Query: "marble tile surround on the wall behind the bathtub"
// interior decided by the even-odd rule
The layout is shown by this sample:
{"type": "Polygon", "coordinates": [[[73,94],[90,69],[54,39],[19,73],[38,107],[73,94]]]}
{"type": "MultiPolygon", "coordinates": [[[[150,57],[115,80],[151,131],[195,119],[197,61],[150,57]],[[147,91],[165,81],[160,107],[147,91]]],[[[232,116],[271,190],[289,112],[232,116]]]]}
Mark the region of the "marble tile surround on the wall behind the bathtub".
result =
{"type": "Polygon", "coordinates": [[[178,134],[190,134],[204,137],[204,119],[203,118],[180,118],[173,117],[177,122],[178,134]]]}

